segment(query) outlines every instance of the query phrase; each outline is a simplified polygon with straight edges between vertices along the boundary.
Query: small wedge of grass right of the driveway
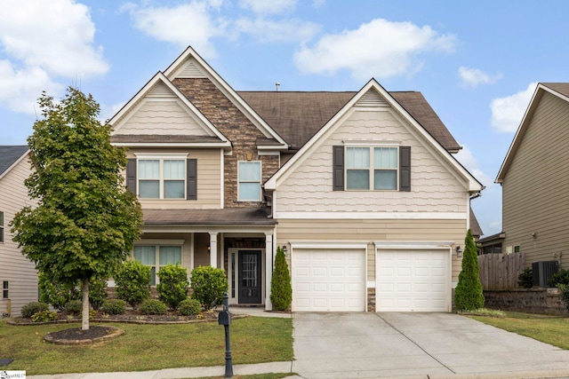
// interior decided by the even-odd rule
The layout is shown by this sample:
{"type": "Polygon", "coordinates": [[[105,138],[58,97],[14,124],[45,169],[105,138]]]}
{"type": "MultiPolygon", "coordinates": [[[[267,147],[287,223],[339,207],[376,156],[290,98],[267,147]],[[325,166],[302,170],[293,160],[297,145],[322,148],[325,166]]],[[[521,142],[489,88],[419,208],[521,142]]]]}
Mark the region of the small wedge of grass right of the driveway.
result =
{"type": "Polygon", "coordinates": [[[569,350],[569,317],[505,312],[502,318],[469,315],[470,318],[569,350]]]}

